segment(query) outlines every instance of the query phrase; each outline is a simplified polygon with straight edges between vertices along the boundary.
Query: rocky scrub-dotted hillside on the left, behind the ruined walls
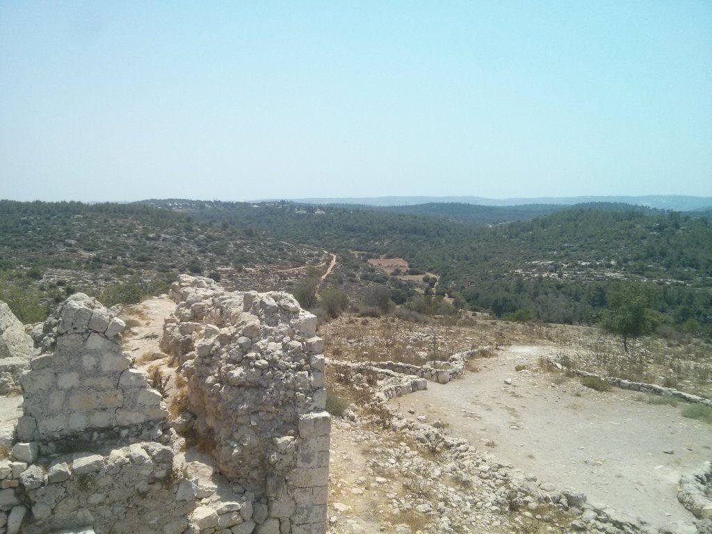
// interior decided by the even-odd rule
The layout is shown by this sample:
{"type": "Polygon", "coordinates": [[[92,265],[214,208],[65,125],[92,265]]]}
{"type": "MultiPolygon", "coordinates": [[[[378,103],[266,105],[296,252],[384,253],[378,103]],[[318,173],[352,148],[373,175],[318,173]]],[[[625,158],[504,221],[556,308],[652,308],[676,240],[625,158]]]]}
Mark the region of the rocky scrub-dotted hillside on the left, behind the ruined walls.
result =
{"type": "Polygon", "coordinates": [[[0,300],[25,322],[83,291],[103,302],[135,302],[179,273],[249,282],[273,279],[256,266],[320,261],[323,252],[250,230],[142,204],[0,201],[0,300]]]}

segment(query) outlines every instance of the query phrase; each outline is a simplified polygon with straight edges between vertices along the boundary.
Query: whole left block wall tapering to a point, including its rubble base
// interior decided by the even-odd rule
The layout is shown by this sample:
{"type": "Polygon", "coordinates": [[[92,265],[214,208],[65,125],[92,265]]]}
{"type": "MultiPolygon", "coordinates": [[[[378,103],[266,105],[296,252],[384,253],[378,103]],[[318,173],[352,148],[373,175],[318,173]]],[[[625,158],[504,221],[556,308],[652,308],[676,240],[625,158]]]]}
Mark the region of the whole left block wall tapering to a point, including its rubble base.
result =
{"type": "Polygon", "coordinates": [[[0,460],[0,533],[188,527],[196,503],[175,500],[167,409],[121,352],[123,328],[78,293],[33,330],[17,442],[0,460]]]}

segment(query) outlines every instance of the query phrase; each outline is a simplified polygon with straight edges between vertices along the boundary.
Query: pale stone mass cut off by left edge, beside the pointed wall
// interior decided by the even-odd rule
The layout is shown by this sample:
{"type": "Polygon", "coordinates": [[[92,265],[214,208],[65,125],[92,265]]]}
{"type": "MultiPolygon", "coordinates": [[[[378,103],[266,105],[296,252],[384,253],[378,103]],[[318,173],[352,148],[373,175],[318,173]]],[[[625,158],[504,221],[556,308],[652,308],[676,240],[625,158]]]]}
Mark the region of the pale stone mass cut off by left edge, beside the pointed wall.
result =
{"type": "Polygon", "coordinates": [[[0,395],[20,391],[19,377],[29,367],[32,353],[31,337],[0,300],[0,395]]]}

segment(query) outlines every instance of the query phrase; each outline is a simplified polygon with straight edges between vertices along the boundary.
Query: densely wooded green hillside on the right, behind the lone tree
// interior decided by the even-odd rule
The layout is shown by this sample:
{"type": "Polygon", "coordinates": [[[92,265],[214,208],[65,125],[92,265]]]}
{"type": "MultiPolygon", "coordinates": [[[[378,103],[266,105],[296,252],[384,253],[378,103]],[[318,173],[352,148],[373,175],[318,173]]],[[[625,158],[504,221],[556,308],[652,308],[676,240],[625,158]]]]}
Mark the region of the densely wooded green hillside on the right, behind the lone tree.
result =
{"type": "MultiPolygon", "coordinates": [[[[152,201],[166,205],[162,201],[152,201]]],[[[173,201],[174,203],[176,201],[173,201]]],[[[492,228],[362,209],[186,201],[197,217],[331,250],[400,256],[441,276],[475,310],[592,323],[620,281],[641,281],[662,320],[712,325],[712,224],[704,216],[629,204],[582,204],[492,228]]]]}

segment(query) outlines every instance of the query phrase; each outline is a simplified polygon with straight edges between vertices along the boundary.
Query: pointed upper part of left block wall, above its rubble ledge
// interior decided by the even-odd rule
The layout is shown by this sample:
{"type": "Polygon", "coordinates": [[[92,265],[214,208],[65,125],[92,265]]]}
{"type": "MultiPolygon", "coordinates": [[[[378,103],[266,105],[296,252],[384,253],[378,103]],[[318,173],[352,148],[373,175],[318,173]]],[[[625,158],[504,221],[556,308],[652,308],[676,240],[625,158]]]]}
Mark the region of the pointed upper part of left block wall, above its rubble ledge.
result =
{"type": "Polygon", "coordinates": [[[60,441],[95,441],[96,431],[110,434],[115,427],[133,427],[145,438],[161,434],[157,426],[167,417],[161,394],[147,387],[145,373],[130,369],[130,357],[121,352],[123,328],[122,320],[83,293],[46,321],[38,336],[41,353],[21,377],[21,441],[53,452],[60,441]]]}

